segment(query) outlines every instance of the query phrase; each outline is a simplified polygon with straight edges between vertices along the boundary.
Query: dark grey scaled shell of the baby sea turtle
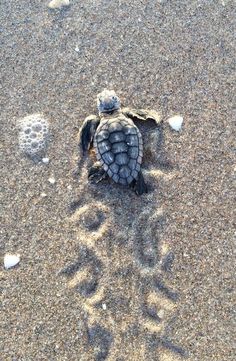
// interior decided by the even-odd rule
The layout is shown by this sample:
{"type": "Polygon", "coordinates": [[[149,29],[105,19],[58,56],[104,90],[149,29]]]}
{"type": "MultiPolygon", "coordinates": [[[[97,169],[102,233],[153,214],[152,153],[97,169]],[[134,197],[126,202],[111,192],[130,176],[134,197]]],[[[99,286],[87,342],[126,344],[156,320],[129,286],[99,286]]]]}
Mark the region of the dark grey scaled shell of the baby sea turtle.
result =
{"type": "Polygon", "coordinates": [[[95,136],[97,159],[107,174],[124,185],[137,179],[143,157],[143,141],[132,120],[119,114],[101,120],[95,136]]]}

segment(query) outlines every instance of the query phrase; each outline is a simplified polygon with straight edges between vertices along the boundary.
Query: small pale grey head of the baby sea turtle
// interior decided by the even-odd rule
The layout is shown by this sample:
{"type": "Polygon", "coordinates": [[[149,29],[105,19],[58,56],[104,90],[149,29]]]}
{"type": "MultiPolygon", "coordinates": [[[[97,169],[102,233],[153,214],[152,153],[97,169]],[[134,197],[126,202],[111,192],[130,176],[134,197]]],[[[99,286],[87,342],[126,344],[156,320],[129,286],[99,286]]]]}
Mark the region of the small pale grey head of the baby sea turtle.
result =
{"type": "Polygon", "coordinates": [[[120,109],[120,99],[114,90],[104,89],[97,96],[97,107],[99,113],[111,113],[120,109]]]}

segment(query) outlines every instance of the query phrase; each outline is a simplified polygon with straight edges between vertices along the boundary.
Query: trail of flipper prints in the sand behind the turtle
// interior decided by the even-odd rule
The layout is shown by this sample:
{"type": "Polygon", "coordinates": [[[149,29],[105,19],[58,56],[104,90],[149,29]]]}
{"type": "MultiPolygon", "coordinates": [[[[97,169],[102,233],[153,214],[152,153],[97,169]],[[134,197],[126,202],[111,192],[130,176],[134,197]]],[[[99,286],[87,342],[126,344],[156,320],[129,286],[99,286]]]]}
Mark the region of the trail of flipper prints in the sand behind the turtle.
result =
{"type": "Polygon", "coordinates": [[[158,183],[174,174],[165,159],[155,161],[151,153],[160,143],[159,132],[144,134],[144,176],[152,185],[148,195],[139,198],[109,181],[92,185],[86,172],[79,179],[78,199],[67,220],[76,234],[78,258],[59,274],[84,309],[85,360],[186,356],[168,331],[180,295],[171,286],[174,254],[160,239],[165,215],[157,207],[158,183]],[[158,164],[167,166],[160,170],[158,164]]]}

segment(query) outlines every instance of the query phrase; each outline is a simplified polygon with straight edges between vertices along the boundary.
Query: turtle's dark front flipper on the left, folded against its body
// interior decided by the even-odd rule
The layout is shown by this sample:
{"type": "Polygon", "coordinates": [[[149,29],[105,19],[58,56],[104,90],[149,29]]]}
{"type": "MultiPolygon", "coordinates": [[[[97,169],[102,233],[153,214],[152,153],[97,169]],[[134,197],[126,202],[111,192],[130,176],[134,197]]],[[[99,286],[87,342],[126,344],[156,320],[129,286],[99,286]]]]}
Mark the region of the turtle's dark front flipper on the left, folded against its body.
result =
{"type": "Polygon", "coordinates": [[[80,145],[83,154],[90,148],[99,123],[100,119],[96,115],[89,115],[85,118],[80,130],[80,145]]]}

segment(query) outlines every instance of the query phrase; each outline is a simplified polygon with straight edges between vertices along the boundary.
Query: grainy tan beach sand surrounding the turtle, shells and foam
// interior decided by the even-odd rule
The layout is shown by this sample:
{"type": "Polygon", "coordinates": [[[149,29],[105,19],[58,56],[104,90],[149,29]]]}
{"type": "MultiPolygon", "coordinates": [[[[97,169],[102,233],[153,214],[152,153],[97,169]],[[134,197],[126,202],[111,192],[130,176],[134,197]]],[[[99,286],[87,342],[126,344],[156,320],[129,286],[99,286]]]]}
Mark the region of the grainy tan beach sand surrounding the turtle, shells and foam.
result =
{"type": "Polygon", "coordinates": [[[235,360],[234,2],[0,7],[0,359],[235,360]],[[104,87],[162,116],[140,128],[147,195],[90,184],[86,161],[72,175],[104,87]],[[48,165],[18,147],[37,112],[48,165]]]}

